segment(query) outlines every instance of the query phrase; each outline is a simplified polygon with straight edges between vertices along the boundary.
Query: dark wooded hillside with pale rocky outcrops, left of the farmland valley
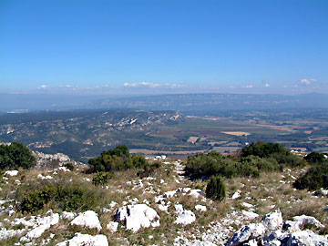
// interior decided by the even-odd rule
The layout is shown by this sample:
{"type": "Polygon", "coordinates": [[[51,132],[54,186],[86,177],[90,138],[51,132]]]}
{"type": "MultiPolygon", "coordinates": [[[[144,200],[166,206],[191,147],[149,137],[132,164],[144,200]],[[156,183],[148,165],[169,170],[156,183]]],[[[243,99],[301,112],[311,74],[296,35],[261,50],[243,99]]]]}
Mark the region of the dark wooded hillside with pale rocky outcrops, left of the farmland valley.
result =
{"type": "Polygon", "coordinates": [[[79,159],[94,157],[121,143],[148,147],[154,140],[145,135],[147,132],[183,120],[183,115],[176,111],[135,109],[6,114],[0,117],[0,139],[20,141],[31,149],[50,154],[63,152],[79,159]]]}

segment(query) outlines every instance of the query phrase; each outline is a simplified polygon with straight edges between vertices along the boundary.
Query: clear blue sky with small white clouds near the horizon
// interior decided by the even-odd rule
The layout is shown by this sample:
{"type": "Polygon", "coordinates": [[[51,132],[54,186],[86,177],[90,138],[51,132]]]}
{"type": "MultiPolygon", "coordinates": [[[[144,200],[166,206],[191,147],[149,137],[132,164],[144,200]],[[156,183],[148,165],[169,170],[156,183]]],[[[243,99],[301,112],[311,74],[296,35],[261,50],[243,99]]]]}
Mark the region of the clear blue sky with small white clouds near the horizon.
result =
{"type": "Polygon", "coordinates": [[[328,93],[328,1],[0,1],[0,92],[328,93]]]}

